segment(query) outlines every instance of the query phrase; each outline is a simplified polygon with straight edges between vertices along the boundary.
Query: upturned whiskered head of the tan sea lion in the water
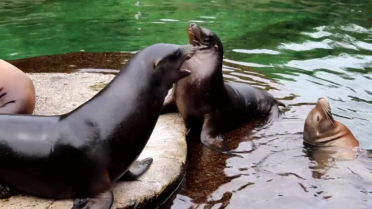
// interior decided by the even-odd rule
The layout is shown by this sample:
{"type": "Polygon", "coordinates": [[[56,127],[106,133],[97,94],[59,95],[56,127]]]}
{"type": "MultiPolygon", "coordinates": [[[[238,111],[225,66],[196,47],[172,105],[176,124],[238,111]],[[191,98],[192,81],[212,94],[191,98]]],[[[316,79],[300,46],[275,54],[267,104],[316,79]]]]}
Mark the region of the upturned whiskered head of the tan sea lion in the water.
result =
{"type": "Polygon", "coordinates": [[[304,141],[308,144],[322,144],[322,139],[327,137],[326,132],[334,128],[331,106],[324,98],[319,98],[305,120],[304,141]]]}

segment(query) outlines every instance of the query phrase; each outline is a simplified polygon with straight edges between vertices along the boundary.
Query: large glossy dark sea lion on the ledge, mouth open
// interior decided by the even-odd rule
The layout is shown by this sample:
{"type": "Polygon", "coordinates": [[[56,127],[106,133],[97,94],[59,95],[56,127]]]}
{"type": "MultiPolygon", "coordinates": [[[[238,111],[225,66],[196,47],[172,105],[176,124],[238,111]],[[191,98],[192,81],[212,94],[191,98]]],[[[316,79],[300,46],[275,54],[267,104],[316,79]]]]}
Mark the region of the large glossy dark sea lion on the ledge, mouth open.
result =
{"type": "Polygon", "coordinates": [[[99,93],[58,116],[0,115],[0,179],[23,192],[109,209],[111,185],[144,173],[136,161],[191,45],[155,44],[132,57],[99,93]]]}

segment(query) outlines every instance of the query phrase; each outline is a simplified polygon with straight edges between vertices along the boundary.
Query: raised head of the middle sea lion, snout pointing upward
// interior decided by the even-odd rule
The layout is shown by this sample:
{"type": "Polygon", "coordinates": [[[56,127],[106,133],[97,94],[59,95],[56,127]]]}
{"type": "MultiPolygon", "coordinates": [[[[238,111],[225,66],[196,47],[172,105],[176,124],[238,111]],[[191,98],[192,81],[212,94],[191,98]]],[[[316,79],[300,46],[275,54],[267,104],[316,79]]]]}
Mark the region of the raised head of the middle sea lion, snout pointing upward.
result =
{"type": "Polygon", "coordinates": [[[218,36],[209,29],[203,28],[191,23],[189,26],[189,44],[193,46],[206,46],[207,48],[214,48],[215,50],[223,53],[221,40],[218,36]]]}

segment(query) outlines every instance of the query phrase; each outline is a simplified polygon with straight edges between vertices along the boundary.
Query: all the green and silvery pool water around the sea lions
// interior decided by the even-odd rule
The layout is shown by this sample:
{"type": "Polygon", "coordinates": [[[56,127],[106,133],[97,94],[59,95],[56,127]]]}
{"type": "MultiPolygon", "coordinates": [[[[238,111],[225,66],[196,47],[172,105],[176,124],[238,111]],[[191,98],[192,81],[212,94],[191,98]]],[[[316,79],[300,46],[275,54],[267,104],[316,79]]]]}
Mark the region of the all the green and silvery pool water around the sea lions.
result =
{"type": "Polygon", "coordinates": [[[360,147],[372,149],[372,1],[6,2],[2,59],[186,44],[187,25],[196,22],[221,38],[226,81],[285,102],[275,122],[224,135],[249,152],[221,155],[190,142],[186,178],[162,208],[371,208],[371,157],[319,168],[319,153],[304,147],[302,131],[325,97],[360,147]]]}

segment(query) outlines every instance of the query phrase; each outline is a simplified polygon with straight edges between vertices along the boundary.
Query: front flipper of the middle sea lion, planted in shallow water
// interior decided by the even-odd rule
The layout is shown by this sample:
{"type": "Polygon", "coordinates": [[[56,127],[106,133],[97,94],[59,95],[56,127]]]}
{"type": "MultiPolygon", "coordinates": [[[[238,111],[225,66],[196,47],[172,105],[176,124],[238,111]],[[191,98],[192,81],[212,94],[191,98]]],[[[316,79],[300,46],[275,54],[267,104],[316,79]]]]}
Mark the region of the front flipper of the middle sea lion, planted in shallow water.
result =
{"type": "Polygon", "coordinates": [[[217,131],[213,116],[206,116],[204,118],[200,139],[206,147],[214,151],[228,152],[231,150],[224,142],[221,133],[217,131]]]}

